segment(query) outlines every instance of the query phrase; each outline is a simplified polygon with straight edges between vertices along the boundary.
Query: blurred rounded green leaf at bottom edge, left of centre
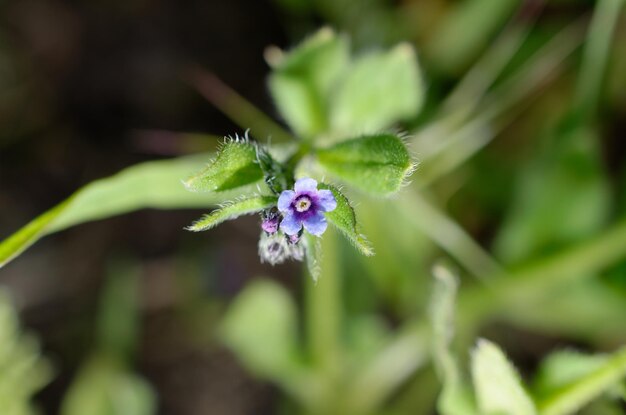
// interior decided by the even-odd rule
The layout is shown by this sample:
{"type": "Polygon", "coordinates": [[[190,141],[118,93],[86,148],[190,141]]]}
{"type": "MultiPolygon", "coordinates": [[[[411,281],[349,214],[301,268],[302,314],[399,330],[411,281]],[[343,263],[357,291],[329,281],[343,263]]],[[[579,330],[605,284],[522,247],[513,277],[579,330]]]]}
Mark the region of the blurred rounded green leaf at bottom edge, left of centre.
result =
{"type": "Polygon", "coordinates": [[[70,386],[60,413],[152,415],[156,414],[156,397],[143,378],[105,355],[94,355],[70,386]]]}

